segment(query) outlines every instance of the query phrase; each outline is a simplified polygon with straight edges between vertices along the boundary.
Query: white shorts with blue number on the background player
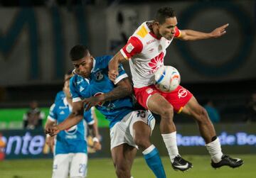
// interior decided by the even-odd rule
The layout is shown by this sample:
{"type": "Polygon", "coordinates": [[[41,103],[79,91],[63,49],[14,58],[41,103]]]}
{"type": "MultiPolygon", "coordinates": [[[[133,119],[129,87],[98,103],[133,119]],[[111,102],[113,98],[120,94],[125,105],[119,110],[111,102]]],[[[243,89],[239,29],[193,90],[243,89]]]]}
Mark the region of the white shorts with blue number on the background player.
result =
{"type": "Polygon", "coordinates": [[[87,154],[82,152],[55,155],[53,178],[86,177],[87,159],[87,154]]]}

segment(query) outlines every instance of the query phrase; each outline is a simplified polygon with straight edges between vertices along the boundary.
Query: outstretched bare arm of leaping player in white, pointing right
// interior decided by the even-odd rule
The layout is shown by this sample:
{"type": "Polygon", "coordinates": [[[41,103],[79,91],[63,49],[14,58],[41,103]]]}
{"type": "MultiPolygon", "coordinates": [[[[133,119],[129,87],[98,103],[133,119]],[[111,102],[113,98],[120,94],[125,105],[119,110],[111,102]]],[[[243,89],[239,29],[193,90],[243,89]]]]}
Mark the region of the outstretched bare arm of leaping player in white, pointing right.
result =
{"type": "Polygon", "coordinates": [[[228,27],[228,23],[215,28],[210,33],[203,33],[196,30],[181,30],[181,35],[178,37],[180,40],[203,40],[208,38],[218,38],[226,33],[225,28],[228,27]]]}

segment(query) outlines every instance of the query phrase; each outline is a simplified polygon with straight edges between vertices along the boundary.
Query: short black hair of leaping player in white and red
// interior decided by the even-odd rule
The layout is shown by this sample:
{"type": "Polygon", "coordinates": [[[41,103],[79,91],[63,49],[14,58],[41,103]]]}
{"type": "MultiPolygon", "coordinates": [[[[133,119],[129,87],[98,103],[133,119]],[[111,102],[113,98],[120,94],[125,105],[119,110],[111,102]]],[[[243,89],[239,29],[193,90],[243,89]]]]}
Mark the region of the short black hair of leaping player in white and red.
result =
{"type": "Polygon", "coordinates": [[[156,12],[154,21],[157,21],[160,24],[163,24],[166,21],[166,18],[175,17],[175,16],[176,16],[176,13],[174,9],[172,9],[171,7],[163,7],[156,12]]]}

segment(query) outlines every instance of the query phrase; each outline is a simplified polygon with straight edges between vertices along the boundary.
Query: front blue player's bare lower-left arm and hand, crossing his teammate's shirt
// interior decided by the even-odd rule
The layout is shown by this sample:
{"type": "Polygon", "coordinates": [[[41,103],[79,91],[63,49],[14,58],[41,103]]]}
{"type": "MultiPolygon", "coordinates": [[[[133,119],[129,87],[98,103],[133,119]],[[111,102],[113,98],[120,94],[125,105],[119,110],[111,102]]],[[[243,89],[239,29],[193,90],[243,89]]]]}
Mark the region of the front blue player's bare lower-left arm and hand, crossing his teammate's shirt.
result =
{"type": "Polygon", "coordinates": [[[48,129],[48,133],[50,136],[57,135],[60,130],[68,129],[72,126],[78,124],[83,118],[83,104],[82,101],[74,102],[73,103],[73,111],[70,113],[68,118],[65,119],[62,123],[58,124],[57,126],[53,126],[48,129]]]}

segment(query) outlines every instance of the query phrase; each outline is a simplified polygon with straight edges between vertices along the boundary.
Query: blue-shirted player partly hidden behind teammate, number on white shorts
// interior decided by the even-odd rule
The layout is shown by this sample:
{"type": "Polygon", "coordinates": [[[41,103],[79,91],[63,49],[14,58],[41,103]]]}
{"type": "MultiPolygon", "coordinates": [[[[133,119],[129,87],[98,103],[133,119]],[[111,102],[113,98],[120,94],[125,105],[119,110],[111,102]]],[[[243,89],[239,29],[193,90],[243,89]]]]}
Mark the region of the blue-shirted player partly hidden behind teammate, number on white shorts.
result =
{"type": "MultiPolygon", "coordinates": [[[[64,121],[73,109],[69,88],[71,77],[72,74],[68,74],[65,77],[63,87],[65,97],[59,97],[60,95],[58,95],[58,93],[55,103],[50,107],[50,113],[46,122],[46,130],[50,126],[54,126],[56,123],[64,121]]],[[[97,139],[98,130],[95,121],[92,118],[91,111],[89,110],[85,112],[83,118],[87,122],[90,130],[92,130],[95,150],[100,150],[101,145],[97,139]]],[[[54,150],[54,178],[64,178],[68,177],[68,175],[70,175],[70,178],[86,177],[88,157],[85,129],[84,120],[82,120],[77,125],[58,133],[56,138],[50,136],[46,137],[46,143],[54,150]]]]}

